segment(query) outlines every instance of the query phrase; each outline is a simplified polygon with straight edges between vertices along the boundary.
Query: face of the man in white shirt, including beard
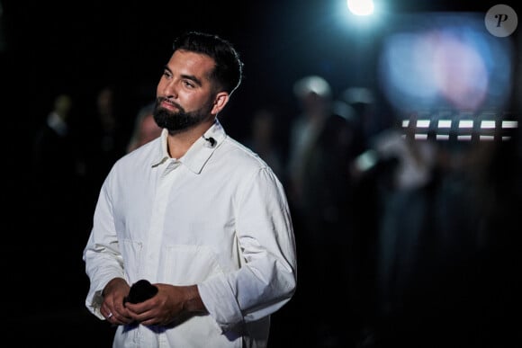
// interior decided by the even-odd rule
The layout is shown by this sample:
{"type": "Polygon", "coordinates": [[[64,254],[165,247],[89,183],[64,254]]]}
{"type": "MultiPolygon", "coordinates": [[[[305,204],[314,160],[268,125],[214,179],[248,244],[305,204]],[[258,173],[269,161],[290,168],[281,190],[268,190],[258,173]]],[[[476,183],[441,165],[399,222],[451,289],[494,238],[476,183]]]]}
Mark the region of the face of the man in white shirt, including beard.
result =
{"type": "Polygon", "coordinates": [[[175,51],[157,85],[154,120],[159,127],[178,133],[215,118],[213,67],[208,56],[175,51]]]}

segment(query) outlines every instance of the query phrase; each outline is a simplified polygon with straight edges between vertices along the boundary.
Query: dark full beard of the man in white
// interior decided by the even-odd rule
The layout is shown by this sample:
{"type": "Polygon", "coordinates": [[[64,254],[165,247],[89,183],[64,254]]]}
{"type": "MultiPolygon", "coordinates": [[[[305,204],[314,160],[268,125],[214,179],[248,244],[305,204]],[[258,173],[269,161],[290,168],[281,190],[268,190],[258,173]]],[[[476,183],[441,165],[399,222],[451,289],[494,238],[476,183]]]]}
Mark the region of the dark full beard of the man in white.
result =
{"type": "Polygon", "coordinates": [[[186,129],[191,129],[194,126],[202,123],[203,120],[211,117],[211,103],[203,105],[201,109],[193,112],[185,112],[184,108],[175,103],[178,108],[178,112],[170,112],[162,108],[160,103],[165,98],[157,98],[156,106],[154,107],[154,120],[160,128],[168,130],[169,134],[179,133],[186,129]]]}

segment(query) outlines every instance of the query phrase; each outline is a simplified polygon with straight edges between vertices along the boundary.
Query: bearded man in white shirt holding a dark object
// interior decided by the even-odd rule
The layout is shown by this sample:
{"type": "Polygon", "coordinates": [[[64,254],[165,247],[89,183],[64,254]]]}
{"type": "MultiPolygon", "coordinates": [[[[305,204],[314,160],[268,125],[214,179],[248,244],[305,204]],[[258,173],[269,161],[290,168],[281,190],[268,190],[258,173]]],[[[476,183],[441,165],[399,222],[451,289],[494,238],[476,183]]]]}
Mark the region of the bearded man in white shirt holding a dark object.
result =
{"type": "Polygon", "coordinates": [[[113,347],[265,347],[271,314],[293,297],[284,188],[217,118],[242,69],[227,40],[177,38],[157,85],[161,136],[103,183],[85,304],[117,326],[113,347]]]}

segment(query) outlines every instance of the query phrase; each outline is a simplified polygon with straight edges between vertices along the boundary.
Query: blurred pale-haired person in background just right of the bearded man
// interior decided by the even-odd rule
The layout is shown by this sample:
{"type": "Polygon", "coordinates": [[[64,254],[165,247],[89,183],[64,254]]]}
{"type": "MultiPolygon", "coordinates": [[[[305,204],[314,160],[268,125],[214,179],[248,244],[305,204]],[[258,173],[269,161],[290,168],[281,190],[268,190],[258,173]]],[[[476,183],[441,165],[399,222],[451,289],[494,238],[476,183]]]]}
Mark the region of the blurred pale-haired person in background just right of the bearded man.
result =
{"type": "Polygon", "coordinates": [[[291,124],[286,175],[296,221],[296,239],[302,250],[302,293],[309,303],[318,291],[329,293],[320,307],[311,308],[313,344],[345,346],[352,335],[347,321],[350,283],[350,234],[353,217],[348,171],[354,140],[349,115],[333,103],[329,82],[321,76],[304,76],[293,85],[301,113],[291,124]],[[348,257],[347,257],[348,256],[348,257]],[[328,271],[327,271],[328,270],[328,271]],[[342,311],[347,321],[339,321],[342,311]]]}

